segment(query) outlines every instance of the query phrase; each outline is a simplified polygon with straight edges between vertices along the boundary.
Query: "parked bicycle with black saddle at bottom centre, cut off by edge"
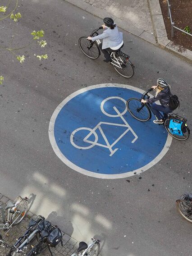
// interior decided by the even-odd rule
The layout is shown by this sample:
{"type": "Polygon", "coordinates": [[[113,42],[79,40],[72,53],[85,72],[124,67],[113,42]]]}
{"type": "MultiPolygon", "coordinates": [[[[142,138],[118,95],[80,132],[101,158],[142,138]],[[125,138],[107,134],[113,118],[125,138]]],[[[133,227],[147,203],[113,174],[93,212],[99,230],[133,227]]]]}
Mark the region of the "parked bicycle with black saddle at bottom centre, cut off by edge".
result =
{"type": "Polygon", "coordinates": [[[80,242],[79,247],[72,256],[97,256],[100,251],[100,241],[91,238],[91,242],[87,244],[86,242],[80,242]]]}

